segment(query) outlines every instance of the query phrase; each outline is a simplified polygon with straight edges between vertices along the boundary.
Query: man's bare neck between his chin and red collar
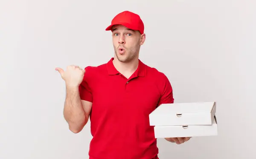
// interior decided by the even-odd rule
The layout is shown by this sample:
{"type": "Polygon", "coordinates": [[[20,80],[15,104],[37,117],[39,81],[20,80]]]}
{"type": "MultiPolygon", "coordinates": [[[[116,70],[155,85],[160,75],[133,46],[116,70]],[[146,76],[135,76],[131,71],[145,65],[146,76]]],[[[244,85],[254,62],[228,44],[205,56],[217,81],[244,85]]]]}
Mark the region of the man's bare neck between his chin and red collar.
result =
{"type": "Polygon", "coordinates": [[[132,61],[125,63],[125,62],[118,61],[118,59],[114,57],[113,65],[123,75],[131,76],[138,68],[139,59],[134,58],[132,61]]]}

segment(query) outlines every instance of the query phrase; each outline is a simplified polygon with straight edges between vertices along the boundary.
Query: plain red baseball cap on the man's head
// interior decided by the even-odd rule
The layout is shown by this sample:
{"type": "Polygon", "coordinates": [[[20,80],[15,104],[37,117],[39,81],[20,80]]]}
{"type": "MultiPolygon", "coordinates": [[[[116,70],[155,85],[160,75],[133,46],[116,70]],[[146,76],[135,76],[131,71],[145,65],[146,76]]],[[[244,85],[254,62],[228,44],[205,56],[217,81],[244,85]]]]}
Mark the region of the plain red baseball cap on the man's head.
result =
{"type": "Polygon", "coordinates": [[[140,16],[130,11],[124,11],[117,14],[106,30],[112,30],[114,25],[122,25],[132,30],[138,30],[140,34],[144,33],[144,24],[140,19],[140,16]]]}

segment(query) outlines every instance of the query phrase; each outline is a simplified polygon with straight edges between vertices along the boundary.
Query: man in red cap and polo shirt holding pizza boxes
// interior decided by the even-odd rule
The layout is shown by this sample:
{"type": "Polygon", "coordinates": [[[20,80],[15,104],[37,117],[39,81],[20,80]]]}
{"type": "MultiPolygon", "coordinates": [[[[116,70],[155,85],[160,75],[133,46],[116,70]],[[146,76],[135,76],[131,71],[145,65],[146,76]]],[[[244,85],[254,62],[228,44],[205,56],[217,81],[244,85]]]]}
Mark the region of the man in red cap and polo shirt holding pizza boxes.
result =
{"type": "MultiPolygon", "coordinates": [[[[114,57],[100,66],[56,68],[65,80],[64,118],[79,133],[90,117],[90,159],[158,159],[149,114],[173,103],[172,86],[162,72],[139,60],[144,24],[132,12],[117,14],[111,25],[114,57]]],[[[189,138],[166,138],[182,144],[189,138]]]]}

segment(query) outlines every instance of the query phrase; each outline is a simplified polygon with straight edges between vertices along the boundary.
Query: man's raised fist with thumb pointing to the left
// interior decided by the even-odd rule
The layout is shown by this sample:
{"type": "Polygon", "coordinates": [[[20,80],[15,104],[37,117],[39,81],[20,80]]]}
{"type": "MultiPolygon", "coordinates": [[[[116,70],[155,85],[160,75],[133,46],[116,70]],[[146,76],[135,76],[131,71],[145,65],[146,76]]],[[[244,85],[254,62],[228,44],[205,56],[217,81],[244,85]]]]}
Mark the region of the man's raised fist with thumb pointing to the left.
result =
{"type": "Polygon", "coordinates": [[[61,68],[55,68],[61,75],[61,78],[66,82],[67,87],[78,87],[84,78],[84,69],[79,66],[70,65],[67,66],[67,70],[64,71],[61,68]]]}

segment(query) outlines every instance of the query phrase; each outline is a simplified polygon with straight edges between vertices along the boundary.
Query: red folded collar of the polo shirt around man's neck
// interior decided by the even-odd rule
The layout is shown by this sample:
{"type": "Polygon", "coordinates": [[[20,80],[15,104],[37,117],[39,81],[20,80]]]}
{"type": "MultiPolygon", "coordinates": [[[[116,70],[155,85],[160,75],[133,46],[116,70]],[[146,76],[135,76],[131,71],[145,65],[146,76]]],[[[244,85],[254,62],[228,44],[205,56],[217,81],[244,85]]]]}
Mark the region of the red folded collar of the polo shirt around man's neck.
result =
{"type": "MultiPolygon", "coordinates": [[[[107,68],[108,68],[108,74],[109,75],[118,75],[120,72],[117,71],[115,66],[113,65],[113,59],[111,58],[110,61],[107,63],[107,68]]],[[[134,72],[134,76],[140,76],[144,77],[145,76],[145,64],[143,64],[142,61],[139,59],[139,65],[136,71],[134,72]]]]}

